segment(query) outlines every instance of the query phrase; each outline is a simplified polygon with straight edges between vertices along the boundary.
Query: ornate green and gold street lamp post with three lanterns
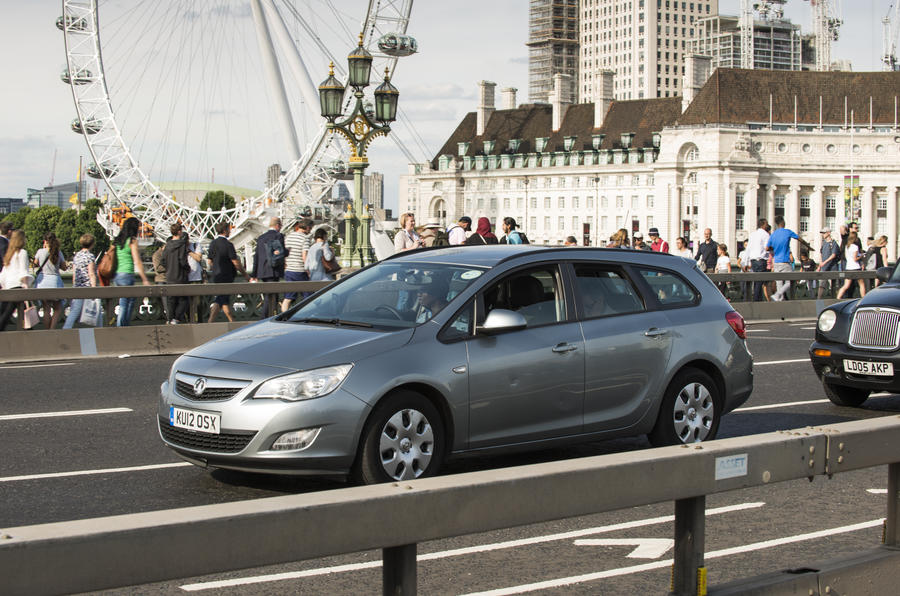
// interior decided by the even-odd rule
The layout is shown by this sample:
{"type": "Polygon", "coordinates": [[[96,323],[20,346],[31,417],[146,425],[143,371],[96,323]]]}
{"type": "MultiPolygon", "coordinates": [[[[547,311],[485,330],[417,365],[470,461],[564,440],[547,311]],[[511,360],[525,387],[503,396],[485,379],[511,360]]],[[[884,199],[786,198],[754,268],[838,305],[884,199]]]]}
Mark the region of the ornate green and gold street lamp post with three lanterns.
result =
{"type": "Polygon", "coordinates": [[[353,87],[356,105],[350,115],[343,117],[345,87],[334,76],[334,64],[328,78],[319,85],[319,102],[322,116],[328,120],[327,128],[340,133],[350,145],[350,170],[353,172],[353,205],[347,206],[344,213],[345,244],[341,253],[342,265],[345,267],[364,267],[375,260],[371,244],[372,216],[363,205],[363,175],[369,160],[366,151],[372,139],[379,135],[387,135],[390,123],[397,119],[397,101],[400,92],[391,85],[388,71],[384,71],[384,82],[375,89],[374,112],[369,112],[363,103],[363,89],[369,86],[372,70],[372,54],[363,47],[363,36],[359,36],[359,45],[347,57],[349,76],[347,85],[353,87]],[[379,124],[380,123],[380,124],[379,124]]]}

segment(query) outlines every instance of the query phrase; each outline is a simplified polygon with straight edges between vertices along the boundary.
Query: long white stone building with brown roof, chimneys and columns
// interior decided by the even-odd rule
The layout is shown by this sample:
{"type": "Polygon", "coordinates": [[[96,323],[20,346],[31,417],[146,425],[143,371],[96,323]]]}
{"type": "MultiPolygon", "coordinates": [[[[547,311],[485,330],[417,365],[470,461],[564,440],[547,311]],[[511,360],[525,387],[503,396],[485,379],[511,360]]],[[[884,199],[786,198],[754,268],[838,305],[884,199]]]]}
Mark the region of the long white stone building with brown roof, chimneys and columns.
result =
{"type": "Polygon", "coordinates": [[[887,235],[896,258],[900,73],[710,76],[709,58],[694,56],[683,97],[578,105],[563,101],[562,76],[552,104],[506,97],[502,110],[482,81],[478,109],[401,179],[401,212],[495,228],[512,216],[546,244],[596,245],[621,227],[657,227],[672,244],[709,227],[731,251],[758,216],[783,215],[815,247],[821,227],[850,218],[863,236],[887,235]]]}

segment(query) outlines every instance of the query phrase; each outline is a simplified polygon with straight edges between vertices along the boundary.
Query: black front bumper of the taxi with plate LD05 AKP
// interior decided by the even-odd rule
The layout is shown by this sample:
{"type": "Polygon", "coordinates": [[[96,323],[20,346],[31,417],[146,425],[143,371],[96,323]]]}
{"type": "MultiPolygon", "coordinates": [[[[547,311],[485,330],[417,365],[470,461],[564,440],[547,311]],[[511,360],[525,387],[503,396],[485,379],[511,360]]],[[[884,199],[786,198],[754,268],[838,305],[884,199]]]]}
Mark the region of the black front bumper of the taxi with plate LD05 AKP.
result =
{"type": "Polygon", "coordinates": [[[900,393],[900,353],[858,350],[846,344],[815,341],[809,347],[809,358],[813,370],[823,382],[831,385],[900,393]],[[817,356],[816,350],[828,350],[830,356],[817,356]],[[894,365],[894,375],[889,377],[860,375],[844,370],[844,359],[864,362],[890,362],[894,365]]]}

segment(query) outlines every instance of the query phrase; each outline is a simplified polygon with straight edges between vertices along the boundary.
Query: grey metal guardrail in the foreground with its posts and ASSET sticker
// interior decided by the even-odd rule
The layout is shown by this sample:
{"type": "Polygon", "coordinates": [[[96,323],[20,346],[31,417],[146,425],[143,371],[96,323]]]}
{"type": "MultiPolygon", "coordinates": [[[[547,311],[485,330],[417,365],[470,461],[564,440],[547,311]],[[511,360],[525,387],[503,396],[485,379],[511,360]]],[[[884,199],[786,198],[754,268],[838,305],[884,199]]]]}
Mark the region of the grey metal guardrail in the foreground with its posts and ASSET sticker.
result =
{"type": "MultiPolygon", "coordinates": [[[[383,593],[408,595],[416,592],[418,543],[675,501],[671,588],[693,596],[705,593],[706,495],[888,464],[884,546],[829,569],[785,573],[775,582],[770,576],[766,585],[826,593],[821,582],[842,575],[849,581],[890,558],[878,580],[883,591],[868,591],[889,593],[900,581],[898,462],[900,416],[889,416],[638,454],[23,526],[0,531],[0,577],[5,594],[60,594],[382,549],[383,593]]],[[[740,586],[729,590],[741,593],[740,586]]]]}

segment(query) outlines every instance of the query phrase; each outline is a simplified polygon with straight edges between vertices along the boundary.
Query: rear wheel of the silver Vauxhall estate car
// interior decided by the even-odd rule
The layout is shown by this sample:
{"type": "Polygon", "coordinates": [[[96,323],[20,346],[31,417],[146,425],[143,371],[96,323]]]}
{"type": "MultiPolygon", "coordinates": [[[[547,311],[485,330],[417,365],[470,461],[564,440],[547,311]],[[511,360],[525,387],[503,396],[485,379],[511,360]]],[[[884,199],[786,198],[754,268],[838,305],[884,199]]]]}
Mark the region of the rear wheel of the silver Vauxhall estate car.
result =
{"type": "Polygon", "coordinates": [[[647,438],[654,447],[709,441],[722,418],[722,399],[712,378],[695,368],[678,372],[663,396],[647,438]]]}

